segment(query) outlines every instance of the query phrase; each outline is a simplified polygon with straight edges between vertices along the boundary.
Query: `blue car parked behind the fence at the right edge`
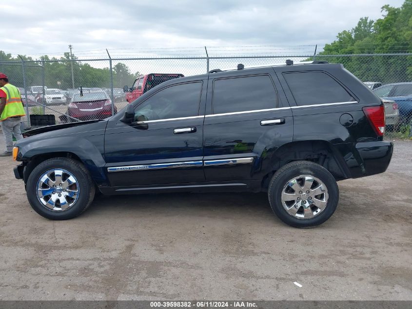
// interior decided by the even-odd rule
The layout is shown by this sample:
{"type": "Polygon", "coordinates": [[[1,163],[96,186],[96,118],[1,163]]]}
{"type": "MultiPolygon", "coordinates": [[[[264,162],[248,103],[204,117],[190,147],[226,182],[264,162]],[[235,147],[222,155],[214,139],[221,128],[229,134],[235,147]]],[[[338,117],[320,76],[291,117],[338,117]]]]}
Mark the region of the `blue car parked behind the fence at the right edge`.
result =
{"type": "Polygon", "coordinates": [[[373,90],[379,98],[394,101],[399,110],[400,123],[412,120],[412,82],[398,82],[383,85],[373,90]]]}

